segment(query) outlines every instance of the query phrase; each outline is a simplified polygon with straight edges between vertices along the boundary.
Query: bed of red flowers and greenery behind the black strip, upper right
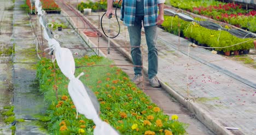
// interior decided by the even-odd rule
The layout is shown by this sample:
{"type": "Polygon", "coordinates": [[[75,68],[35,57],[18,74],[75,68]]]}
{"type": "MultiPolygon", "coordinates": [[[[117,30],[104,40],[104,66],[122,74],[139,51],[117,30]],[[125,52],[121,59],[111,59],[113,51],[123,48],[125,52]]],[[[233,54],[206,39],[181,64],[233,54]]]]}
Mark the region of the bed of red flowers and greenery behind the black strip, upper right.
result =
{"type": "Polygon", "coordinates": [[[185,9],[195,14],[210,17],[214,20],[241,27],[256,32],[256,11],[244,10],[241,5],[234,3],[221,3],[217,1],[174,1],[173,7],[185,9]]]}

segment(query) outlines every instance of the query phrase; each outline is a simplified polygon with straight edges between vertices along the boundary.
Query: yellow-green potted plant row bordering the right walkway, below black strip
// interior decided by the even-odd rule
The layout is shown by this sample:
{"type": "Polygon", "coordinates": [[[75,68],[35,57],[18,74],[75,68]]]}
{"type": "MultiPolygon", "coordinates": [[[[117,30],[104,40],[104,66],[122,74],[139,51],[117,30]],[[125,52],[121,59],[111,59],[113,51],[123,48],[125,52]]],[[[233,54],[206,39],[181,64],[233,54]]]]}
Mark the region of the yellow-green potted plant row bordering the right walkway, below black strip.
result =
{"type": "MultiPolygon", "coordinates": [[[[226,31],[209,30],[205,27],[201,27],[195,22],[193,22],[193,24],[189,26],[191,22],[187,22],[182,19],[179,19],[178,21],[177,16],[173,17],[173,19],[171,16],[165,16],[165,21],[163,22],[162,26],[166,31],[178,35],[178,22],[180,26],[181,36],[184,38],[194,39],[197,44],[202,46],[225,47],[225,46],[245,42],[246,40],[248,40],[248,39],[241,39],[241,38],[232,36],[229,32],[226,32],[226,31]],[[172,28],[170,27],[171,22],[173,25],[172,28]]],[[[229,28],[229,27],[226,26],[226,28],[229,28]]],[[[241,50],[248,50],[250,48],[253,48],[253,46],[254,46],[253,41],[250,41],[240,45],[232,46],[230,48],[214,49],[214,50],[224,51],[224,52],[237,51],[237,50],[241,51],[241,50]]]]}

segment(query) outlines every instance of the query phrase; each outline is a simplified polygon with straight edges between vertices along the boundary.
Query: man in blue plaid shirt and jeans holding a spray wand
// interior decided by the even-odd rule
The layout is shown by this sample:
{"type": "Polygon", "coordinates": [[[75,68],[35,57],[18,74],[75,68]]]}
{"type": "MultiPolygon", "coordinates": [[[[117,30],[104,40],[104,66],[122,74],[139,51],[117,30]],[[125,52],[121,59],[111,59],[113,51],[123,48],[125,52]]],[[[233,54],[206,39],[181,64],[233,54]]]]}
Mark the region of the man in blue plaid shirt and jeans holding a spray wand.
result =
{"type": "MultiPolygon", "coordinates": [[[[121,6],[121,20],[127,26],[131,46],[141,45],[142,22],[148,46],[148,78],[152,87],[160,87],[156,74],[158,73],[158,49],[156,48],[157,25],[164,21],[165,0],[123,0],[121,6]],[[159,14],[158,14],[159,7],[159,14]]],[[[112,10],[113,0],[108,0],[107,17],[114,14],[112,10]]],[[[131,48],[133,64],[142,66],[141,48],[131,48]]],[[[135,67],[135,77],[133,83],[142,82],[142,68],[135,67]]]]}

